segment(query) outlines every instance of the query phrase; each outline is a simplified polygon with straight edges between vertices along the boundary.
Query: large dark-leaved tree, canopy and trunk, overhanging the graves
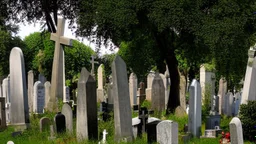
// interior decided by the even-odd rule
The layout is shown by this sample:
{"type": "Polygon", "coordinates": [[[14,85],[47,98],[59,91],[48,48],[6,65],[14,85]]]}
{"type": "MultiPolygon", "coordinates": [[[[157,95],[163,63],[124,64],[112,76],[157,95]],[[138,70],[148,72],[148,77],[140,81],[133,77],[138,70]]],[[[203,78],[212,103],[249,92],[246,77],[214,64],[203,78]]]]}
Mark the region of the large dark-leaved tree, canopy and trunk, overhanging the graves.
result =
{"type": "MultiPolygon", "coordinates": [[[[19,6],[25,11],[20,10],[25,16],[40,19],[46,17],[47,13],[59,10],[64,17],[77,20],[77,34],[93,35],[99,45],[102,40],[107,42],[111,39],[115,45],[120,46],[121,42],[129,43],[146,36],[159,51],[157,64],[160,72],[165,69],[164,63],[170,71],[172,86],[167,112],[173,111],[180,104],[177,53],[182,53],[189,67],[193,66],[194,69],[198,63],[209,62],[214,58],[220,74],[234,74],[231,66],[238,67],[238,64],[244,64],[246,60],[245,56],[234,59],[230,57],[244,53],[252,44],[249,40],[255,32],[255,2],[248,0],[81,0],[77,3],[65,0],[57,1],[60,3],[57,5],[48,0],[45,2],[48,2],[50,11],[45,11],[41,6],[39,11],[43,11],[44,15],[37,17],[28,15],[30,10],[26,10],[26,2],[17,2],[24,4],[19,6]],[[63,3],[75,9],[69,13],[62,7],[65,5],[63,3]]],[[[142,42],[147,43],[146,40],[142,42]]],[[[242,67],[245,66],[239,66],[238,69],[244,69],[242,67]]],[[[191,74],[195,73],[193,69],[190,70],[191,74]]]]}

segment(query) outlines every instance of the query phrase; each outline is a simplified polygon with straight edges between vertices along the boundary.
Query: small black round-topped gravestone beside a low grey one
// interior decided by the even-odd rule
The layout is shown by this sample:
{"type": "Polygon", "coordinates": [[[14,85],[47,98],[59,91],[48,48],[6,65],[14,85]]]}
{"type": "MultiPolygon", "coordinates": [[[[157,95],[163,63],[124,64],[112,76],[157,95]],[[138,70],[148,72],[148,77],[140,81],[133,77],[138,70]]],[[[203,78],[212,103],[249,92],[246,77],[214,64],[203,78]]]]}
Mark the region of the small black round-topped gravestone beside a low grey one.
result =
{"type": "Polygon", "coordinates": [[[64,132],[66,132],[66,118],[65,118],[65,116],[61,112],[58,112],[55,115],[54,122],[55,122],[56,132],[57,133],[64,133],[64,132]]]}

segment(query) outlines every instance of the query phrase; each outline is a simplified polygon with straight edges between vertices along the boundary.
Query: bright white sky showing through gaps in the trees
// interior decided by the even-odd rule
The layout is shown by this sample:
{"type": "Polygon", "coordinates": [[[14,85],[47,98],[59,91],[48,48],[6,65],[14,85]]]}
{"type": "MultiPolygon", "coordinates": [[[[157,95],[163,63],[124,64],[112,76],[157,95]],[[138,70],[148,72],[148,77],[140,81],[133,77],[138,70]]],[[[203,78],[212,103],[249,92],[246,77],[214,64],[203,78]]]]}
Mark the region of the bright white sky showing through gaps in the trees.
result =
{"type": "MultiPolygon", "coordinates": [[[[34,23],[33,24],[20,23],[19,28],[20,28],[20,31],[18,32],[18,36],[20,36],[21,39],[24,39],[26,36],[28,36],[31,33],[39,32],[40,31],[40,23],[35,23],[35,24],[34,23]]],[[[95,47],[96,47],[95,43],[89,42],[86,39],[81,41],[81,38],[78,39],[75,37],[75,35],[72,33],[71,29],[68,28],[68,21],[66,21],[66,23],[65,23],[64,36],[67,38],[72,38],[72,39],[76,39],[80,42],[83,42],[85,45],[91,47],[95,51],[95,47]]],[[[117,50],[118,49],[115,49],[114,52],[117,52],[117,50]]],[[[113,52],[110,51],[105,46],[102,46],[102,48],[100,49],[100,55],[111,54],[111,53],[113,53],[113,52]]]]}

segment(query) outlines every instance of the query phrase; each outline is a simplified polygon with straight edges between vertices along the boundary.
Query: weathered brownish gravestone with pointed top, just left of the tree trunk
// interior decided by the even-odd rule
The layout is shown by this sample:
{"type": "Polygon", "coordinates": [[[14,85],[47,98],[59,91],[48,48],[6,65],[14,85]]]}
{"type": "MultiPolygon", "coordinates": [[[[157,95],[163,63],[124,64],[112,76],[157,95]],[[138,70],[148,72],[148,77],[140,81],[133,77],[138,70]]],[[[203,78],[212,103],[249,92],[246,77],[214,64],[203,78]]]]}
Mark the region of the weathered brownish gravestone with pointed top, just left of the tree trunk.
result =
{"type": "Polygon", "coordinates": [[[156,73],[152,83],[152,102],[151,107],[157,111],[163,111],[165,109],[165,88],[162,78],[159,73],[156,73]]]}

